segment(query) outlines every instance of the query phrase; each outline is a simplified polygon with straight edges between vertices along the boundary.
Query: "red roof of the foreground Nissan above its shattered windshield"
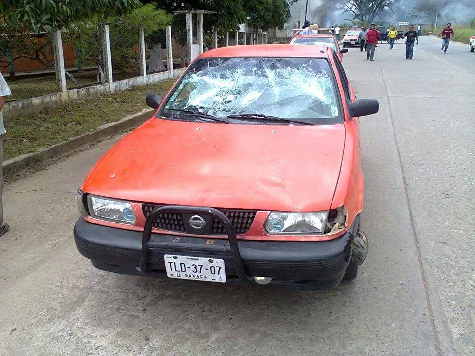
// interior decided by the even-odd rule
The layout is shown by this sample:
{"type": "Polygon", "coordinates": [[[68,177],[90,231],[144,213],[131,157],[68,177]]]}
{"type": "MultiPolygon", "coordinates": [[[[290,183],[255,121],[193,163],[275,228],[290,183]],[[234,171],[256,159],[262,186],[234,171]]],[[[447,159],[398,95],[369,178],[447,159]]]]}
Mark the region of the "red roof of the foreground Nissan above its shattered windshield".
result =
{"type": "MultiPolygon", "coordinates": [[[[311,36],[312,37],[312,36],[311,36]]],[[[200,58],[218,57],[299,57],[328,58],[327,47],[303,45],[238,45],[204,52],[200,58]]]]}

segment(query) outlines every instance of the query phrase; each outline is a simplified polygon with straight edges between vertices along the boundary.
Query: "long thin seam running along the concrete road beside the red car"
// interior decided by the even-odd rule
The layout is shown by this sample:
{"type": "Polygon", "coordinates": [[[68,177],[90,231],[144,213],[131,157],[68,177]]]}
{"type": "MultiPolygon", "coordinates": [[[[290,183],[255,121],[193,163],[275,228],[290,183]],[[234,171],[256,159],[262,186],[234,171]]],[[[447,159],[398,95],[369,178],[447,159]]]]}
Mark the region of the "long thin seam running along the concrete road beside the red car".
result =
{"type": "Polygon", "coordinates": [[[397,144],[396,128],[394,127],[394,121],[392,119],[391,102],[389,101],[389,91],[388,91],[388,87],[386,85],[386,81],[384,79],[384,71],[382,70],[381,65],[380,65],[380,70],[381,70],[382,83],[384,84],[384,88],[386,89],[387,108],[388,108],[388,111],[389,111],[388,116],[389,116],[389,120],[391,122],[392,134],[393,134],[393,137],[394,137],[394,144],[396,146],[397,160],[399,161],[399,167],[401,169],[402,180],[403,180],[402,183],[404,185],[404,198],[406,199],[406,206],[407,206],[407,210],[408,210],[408,213],[409,213],[409,221],[411,223],[413,241],[414,241],[414,245],[416,247],[417,262],[418,262],[418,265],[419,265],[419,271],[421,273],[421,279],[422,279],[422,283],[423,283],[423,286],[424,286],[424,294],[426,296],[427,311],[429,313],[430,325],[432,327],[432,335],[433,335],[434,341],[435,341],[435,350],[437,352],[437,356],[442,356],[442,351],[441,351],[441,347],[440,347],[440,340],[439,340],[439,336],[437,334],[437,328],[435,326],[434,313],[432,311],[432,304],[430,302],[429,289],[428,289],[428,286],[427,286],[426,275],[425,275],[425,272],[424,272],[424,265],[422,263],[421,250],[419,249],[419,242],[418,242],[418,238],[417,238],[417,234],[416,234],[416,227],[414,225],[414,218],[412,216],[411,205],[409,203],[409,195],[407,193],[406,179],[405,179],[405,175],[404,175],[404,168],[402,167],[401,152],[399,151],[399,145],[397,144]]]}

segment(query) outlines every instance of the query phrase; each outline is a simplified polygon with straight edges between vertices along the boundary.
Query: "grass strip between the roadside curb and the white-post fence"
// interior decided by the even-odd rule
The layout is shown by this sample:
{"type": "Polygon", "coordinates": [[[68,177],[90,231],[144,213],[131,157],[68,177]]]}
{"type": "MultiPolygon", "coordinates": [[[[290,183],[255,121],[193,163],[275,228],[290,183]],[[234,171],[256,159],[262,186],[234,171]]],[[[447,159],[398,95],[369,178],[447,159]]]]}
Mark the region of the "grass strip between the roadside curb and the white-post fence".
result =
{"type": "Polygon", "coordinates": [[[168,79],[23,117],[5,117],[4,158],[35,152],[137,113],[147,108],[147,94],[165,94],[174,82],[168,79]]]}

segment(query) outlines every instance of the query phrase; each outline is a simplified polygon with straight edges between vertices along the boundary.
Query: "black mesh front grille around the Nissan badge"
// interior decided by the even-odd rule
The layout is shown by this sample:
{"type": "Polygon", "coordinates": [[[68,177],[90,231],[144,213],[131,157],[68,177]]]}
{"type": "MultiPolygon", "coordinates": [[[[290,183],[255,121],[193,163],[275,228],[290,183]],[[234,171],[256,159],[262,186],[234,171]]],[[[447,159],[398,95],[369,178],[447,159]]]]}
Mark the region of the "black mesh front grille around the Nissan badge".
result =
{"type": "MultiPolygon", "coordinates": [[[[158,208],[160,205],[154,204],[142,204],[143,214],[145,218],[150,213],[158,208]]],[[[219,209],[226,215],[233,226],[233,229],[237,235],[245,234],[249,231],[249,228],[256,216],[255,210],[229,210],[219,209]]],[[[168,231],[185,232],[185,226],[183,224],[182,215],[180,213],[164,213],[160,214],[153,222],[153,227],[168,231]]],[[[224,235],[226,234],[226,228],[219,221],[219,219],[213,219],[213,225],[211,227],[211,235],[224,235]]]]}

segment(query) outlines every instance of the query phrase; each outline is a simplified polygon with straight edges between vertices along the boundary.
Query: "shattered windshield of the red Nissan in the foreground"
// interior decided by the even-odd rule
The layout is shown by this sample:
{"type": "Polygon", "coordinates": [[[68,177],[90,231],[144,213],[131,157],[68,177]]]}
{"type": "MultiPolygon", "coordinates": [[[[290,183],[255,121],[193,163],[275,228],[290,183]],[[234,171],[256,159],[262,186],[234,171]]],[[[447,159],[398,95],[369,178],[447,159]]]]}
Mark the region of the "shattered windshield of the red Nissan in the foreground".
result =
{"type": "Polygon", "coordinates": [[[341,122],[334,79],[322,58],[203,58],[186,72],[159,116],[259,114],[341,122]]]}

